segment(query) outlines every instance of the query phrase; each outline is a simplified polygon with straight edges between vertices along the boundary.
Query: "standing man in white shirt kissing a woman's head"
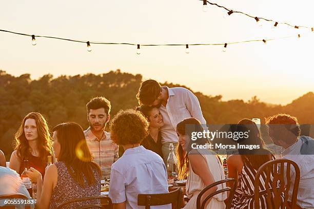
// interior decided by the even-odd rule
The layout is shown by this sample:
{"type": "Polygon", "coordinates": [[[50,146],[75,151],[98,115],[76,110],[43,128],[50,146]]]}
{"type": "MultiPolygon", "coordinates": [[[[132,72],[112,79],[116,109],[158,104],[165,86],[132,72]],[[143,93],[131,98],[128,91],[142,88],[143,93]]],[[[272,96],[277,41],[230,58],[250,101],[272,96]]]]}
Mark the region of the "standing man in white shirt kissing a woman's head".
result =
{"type": "Polygon", "coordinates": [[[206,126],[198,98],[186,88],[161,87],[155,80],[146,80],[142,82],[136,98],[140,105],[158,107],[163,116],[165,124],[160,131],[165,164],[169,155],[169,144],[173,143],[174,150],[178,145],[176,124],[183,119],[193,117],[206,126]]]}

